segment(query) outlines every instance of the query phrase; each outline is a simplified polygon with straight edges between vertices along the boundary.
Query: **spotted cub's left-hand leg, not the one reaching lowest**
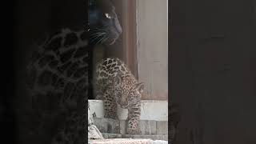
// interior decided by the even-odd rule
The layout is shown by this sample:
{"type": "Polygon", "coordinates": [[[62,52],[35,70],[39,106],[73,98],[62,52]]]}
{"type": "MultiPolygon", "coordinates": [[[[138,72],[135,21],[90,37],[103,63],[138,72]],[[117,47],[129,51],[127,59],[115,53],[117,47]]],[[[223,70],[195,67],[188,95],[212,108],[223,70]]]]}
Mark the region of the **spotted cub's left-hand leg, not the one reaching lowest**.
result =
{"type": "Polygon", "coordinates": [[[103,102],[104,102],[104,110],[105,110],[105,115],[104,118],[118,118],[117,115],[117,104],[115,102],[115,99],[111,95],[109,91],[106,91],[105,94],[103,95],[103,102]]]}

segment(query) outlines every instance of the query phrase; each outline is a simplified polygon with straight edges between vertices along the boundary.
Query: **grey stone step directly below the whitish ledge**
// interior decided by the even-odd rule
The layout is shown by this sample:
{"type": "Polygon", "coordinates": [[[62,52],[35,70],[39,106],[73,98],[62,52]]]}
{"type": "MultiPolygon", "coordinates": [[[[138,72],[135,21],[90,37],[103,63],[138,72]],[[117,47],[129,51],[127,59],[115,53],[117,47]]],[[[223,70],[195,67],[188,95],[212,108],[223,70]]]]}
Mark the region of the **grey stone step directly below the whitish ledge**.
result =
{"type": "MultiPolygon", "coordinates": [[[[126,121],[112,118],[94,118],[94,124],[102,133],[126,134],[126,121]]],[[[142,135],[168,135],[167,121],[141,120],[139,130],[142,135]]]]}

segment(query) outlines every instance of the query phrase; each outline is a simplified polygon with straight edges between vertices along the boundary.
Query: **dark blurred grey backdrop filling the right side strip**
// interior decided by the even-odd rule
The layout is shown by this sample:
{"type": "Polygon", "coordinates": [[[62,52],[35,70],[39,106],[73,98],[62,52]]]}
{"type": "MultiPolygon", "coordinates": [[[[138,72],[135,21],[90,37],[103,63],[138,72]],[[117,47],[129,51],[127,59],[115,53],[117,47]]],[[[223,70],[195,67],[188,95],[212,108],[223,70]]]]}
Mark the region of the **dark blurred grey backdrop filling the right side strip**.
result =
{"type": "Polygon", "coordinates": [[[170,2],[170,98],[176,143],[256,143],[253,1],[170,2]]]}

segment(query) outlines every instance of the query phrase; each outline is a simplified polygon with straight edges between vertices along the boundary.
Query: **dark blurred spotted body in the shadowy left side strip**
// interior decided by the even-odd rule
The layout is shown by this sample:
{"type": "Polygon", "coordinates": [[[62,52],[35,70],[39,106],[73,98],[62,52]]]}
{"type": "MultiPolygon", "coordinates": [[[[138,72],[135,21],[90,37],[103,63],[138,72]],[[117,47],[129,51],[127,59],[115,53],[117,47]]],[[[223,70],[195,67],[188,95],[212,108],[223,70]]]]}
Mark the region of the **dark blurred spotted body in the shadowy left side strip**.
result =
{"type": "Polygon", "coordinates": [[[89,83],[86,31],[63,29],[35,47],[26,67],[32,110],[40,118],[31,130],[34,137],[44,131],[46,143],[85,143],[89,83]]]}

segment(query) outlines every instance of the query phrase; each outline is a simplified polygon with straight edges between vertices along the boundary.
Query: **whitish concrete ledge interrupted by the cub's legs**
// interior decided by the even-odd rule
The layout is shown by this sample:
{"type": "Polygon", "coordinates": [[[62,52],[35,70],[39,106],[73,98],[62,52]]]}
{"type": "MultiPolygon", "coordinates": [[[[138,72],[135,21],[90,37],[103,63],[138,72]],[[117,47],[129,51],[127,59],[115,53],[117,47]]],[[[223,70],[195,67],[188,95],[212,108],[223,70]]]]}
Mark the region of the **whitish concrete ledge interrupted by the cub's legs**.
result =
{"type": "MultiPolygon", "coordinates": [[[[104,117],[102,100],[89,100],[90,114],[96,114],[96,118],[104,117]]],[[[142,100],[141,120],[168,121],[168,102],[142,100]]],[[[128,110],[118,107],[118,118],[126,120],[128,110]]]]}

